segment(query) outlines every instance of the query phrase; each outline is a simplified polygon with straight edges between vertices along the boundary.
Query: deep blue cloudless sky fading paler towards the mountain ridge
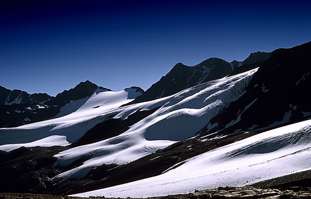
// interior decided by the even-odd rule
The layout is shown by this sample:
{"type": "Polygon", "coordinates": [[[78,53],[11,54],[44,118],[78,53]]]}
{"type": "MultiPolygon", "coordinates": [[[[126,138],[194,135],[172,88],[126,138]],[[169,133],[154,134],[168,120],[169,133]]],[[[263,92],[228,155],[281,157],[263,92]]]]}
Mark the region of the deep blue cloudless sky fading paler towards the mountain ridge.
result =
{"type": "Polygon", "coordinates": [[[144,90],[178,62],[311,40],[311,3],[1,1],[0,85],[55,96],[90,80],[144,90]]]}

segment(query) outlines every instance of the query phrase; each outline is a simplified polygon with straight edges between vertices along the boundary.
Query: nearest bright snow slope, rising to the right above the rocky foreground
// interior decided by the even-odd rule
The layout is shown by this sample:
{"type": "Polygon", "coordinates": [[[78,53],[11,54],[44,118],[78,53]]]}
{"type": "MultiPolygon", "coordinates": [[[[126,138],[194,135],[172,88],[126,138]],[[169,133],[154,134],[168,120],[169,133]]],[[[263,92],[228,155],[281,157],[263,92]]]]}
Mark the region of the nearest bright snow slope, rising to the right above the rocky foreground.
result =
{"type": "Polygon", "coordinates": [[[156,177],[72,196],[138,198],[245,186],[311,169],[310,144],[308,120],[211,150],[156,177]]]}

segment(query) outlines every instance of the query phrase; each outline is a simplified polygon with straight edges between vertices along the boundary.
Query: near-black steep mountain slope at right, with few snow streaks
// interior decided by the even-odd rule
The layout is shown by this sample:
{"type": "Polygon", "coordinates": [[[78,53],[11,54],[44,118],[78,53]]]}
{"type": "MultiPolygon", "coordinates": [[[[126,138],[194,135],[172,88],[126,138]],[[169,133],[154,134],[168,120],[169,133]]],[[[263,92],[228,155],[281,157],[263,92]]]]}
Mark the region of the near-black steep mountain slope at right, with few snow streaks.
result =
{"type": "Polygon", "coordinates": [[[310,73],[311,42],[274,50],[245,94],[211,120],[217,123],[211,131],[261,130],[310,118],[310,73]]]}

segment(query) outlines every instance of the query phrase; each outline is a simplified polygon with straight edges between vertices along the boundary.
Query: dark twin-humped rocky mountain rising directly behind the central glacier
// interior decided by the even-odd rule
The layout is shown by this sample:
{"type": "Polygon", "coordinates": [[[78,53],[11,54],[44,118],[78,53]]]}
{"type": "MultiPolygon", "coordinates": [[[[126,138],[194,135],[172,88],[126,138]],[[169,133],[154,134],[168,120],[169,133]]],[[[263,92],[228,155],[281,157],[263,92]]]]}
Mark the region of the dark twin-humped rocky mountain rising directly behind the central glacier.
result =
{"type": "Polygon", "coordinates": [[[197,84],[223,78],[243,64],[259,62],[262,64],[270,54],[258,51],[251,53],[244,61],[239,62],[234,60],[231,63],[219,58],[209,58],[195,66],[186,66],[182,63],[177,63],[169,73],[163,76],[158,82],[152,84],[144,94],[123,106],[167,97],[197,84]]]}

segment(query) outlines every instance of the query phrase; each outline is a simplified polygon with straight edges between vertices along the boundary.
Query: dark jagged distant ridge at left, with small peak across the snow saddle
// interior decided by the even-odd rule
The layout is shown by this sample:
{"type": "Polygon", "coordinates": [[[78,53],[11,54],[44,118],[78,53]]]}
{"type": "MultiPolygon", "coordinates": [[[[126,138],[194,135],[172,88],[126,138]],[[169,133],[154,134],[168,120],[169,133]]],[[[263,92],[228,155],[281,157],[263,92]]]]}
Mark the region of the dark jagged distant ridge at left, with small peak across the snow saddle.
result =
{"type": "MultiPolygon", "coordinates": [[[[130,99],[144,92],[139,87],[130,87],[125,90],[128,91],[130,99]]],[[[46,93],[29,94],[16,89],[12,91],[0,86],[0,127],[16,127],[70,114],[94,93],[105,91],[112,90],[97,86],[88,80],[80,82],[68,91],[58,93],[56,97],[46,93]],[[71,105],[63,110],[67,104],[71,105]]]]}

